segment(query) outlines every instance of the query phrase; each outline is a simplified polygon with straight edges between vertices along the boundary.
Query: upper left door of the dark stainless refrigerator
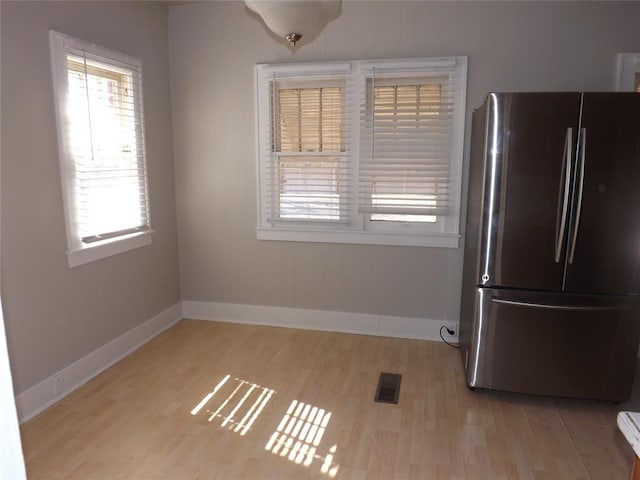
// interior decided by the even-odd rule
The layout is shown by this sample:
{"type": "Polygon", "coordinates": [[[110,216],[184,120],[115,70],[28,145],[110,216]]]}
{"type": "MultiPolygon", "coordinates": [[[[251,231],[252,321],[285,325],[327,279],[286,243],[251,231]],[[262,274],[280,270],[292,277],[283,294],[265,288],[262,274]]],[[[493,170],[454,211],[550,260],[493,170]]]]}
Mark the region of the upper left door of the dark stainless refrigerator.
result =
{"type": "Polygon", "coordinates": [[[490,94],[476,284],[561,290],[579,111],[579,93],[490,94]]]}

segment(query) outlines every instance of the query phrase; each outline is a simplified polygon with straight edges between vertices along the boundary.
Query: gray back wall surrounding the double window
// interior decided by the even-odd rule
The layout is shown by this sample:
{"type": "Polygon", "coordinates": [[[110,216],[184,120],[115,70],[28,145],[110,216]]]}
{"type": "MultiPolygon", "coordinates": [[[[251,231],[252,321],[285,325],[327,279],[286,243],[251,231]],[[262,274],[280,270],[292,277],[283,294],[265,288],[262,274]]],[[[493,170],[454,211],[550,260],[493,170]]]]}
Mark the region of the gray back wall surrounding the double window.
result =
{"type": "Polygon", "coordinates": [[[491,90],[612,89],[639,19],[640,2],[345,1],[292,53],[241,2],[172,7],[183,300],[458,318],[461,249],[256,240],[255,63],[468,55],[470,113],[491,90]]]}

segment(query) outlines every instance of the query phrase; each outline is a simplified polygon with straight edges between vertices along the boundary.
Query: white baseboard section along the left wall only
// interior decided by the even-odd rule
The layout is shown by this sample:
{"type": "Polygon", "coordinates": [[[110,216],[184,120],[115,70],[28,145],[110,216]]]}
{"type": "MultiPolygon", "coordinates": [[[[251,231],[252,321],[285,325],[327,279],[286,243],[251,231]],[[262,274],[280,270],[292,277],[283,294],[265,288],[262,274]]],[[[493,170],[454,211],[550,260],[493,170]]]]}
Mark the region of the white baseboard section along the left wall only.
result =
{"type": "Polygon", "coordinates": [[[90,354],[63,368],[51,377],[16,396],[18,419],[24,423],[59,401],[79,386],[109,368],[118,360],[147,343],[182,318],[182,305],[175,305],[160,312],[141,325],[113,339],[90,354]],[[62,375],[58,393],[54,394],[54,378],[62,375]]]}

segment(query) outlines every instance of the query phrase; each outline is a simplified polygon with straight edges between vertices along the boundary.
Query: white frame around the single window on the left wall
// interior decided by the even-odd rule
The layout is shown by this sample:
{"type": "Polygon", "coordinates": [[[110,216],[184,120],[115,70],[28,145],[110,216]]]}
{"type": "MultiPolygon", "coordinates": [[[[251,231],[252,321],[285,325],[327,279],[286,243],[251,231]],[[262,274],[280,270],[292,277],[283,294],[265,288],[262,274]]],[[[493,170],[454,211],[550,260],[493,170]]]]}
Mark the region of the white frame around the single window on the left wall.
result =
{"type": "Polygon", "coordinates": [[[117,255],[135,248],[151,244],[151,216],[148,199],[148,183],[146,175],[146,152],[144,148],[144,113],[142,99],[142,61],[136,57],[126,55],[108,48],[86,42],[69,35],[49,31],[49,46],[51,53],[51,72],[53,79],[54,103],[56,111],[56,125],[58,134],[58,151],[60,161],[60,175],[62,184],[62,196],[64,203],[65,231],[67,239],[67,261],[69,267],[76,267],[93,262],[112,255],[117,255]],[[142,187],[144,191],[143,201],[146,202],[147,225],[144,230],[133,233],[123,233],[99,241],[86,243],[82,241],[78,228],[77,208],[75,201],[75,170],[76,164],[71,154],[71,145],[68,140],[70,121],[66,115],[66,105],[69,95],[67,55],[82,55],[86,52],[100,58],[100,62],[132,72],[134,91],[134,114],[138,136],[142,139],[139,146],[138,162],[143,169],[142,187]]]}

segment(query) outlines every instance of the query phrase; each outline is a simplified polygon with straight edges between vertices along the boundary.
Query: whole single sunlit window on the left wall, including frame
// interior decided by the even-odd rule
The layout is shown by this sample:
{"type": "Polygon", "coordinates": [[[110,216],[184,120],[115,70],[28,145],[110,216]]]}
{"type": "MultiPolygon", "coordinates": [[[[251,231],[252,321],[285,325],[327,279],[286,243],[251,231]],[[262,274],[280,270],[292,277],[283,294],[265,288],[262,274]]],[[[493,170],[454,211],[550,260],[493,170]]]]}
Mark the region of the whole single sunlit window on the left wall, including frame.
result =
{"type": "Polygon", "coordinates": [[[151,242],[142,62],[50,32],[69,266],[151,242]]]}

